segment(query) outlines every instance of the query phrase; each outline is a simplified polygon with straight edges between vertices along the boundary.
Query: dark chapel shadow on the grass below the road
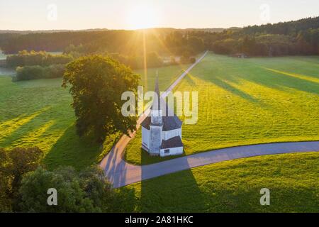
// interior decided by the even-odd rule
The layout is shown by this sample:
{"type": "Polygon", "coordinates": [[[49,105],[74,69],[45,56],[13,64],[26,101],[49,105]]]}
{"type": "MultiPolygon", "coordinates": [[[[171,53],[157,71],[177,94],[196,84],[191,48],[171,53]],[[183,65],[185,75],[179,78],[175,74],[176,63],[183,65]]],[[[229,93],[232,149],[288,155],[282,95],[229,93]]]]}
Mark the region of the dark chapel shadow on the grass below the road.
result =
{"type": "MultiPolygon", "coordinates": [[[[188,165],[188,162],[180,163],[188,165]]],[[[169,167],[168,167],[169,168],[169,167]]],[[[165,172],[165,170],[163,170],[165,172]]],[[[142,178],[147,177],[142,168],[142,178]]],[[[183,177],[173,174],[142,181],[139,211],[141,212],[201,212],[206,204],[191,170],[184,170],[183,177]],[[180,182],[183,184],[180,184],[180,182]],[[179,185],[184,185],[179,187],[179,185]]]]}

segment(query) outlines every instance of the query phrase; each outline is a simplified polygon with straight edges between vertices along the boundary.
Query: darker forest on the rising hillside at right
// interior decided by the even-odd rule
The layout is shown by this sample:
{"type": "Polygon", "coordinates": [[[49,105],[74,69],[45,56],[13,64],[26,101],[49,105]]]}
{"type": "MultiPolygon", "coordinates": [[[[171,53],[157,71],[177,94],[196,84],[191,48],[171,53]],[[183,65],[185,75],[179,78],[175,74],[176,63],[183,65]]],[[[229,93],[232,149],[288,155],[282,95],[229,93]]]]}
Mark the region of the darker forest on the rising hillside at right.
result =
{"type": "Polygon", "coordinates": [[[228,55],[318,55],[318,46],[319,17],[223,31],[211,40],[211,50],[228,55]]]}

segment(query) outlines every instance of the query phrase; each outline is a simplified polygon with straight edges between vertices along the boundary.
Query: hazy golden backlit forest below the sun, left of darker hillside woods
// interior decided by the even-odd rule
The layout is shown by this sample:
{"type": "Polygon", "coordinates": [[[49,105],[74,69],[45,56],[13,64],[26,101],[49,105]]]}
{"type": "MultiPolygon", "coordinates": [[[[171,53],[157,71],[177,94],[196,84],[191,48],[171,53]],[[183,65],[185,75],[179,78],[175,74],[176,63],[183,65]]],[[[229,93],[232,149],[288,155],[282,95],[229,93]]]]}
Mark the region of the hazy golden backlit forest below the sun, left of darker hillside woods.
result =
{"type": "MultiPolygon", "coordinates": [[[[74,52],[72,45],[79,47],[75,52],[101,54],[118,52],[125,56],[140,56],[143,48],[159,55],[182,55],[185,51],[196,54],[205,49],[197,31],[156,28],[143,31],[86,31],[61,33],[20,34],[0,42],[6,54],[21,50],[45,50],[74,52]]],[[[2,34],[0,34],[1,37],[2,34]]],[[[73,48],[74,49],[74,48],[73,48]]]]}

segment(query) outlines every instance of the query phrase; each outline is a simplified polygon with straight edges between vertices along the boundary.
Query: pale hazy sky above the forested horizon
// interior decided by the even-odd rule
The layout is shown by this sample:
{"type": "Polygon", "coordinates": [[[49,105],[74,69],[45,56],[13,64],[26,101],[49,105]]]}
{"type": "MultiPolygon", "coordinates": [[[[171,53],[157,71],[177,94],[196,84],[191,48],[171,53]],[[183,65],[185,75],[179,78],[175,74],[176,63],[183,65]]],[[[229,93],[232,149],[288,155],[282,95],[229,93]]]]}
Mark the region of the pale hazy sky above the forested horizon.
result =
{"type": "Polygon", "coordinates": [[[228,28],[319,16],[319,0],[1,0],[0,30],[228,28]]]}

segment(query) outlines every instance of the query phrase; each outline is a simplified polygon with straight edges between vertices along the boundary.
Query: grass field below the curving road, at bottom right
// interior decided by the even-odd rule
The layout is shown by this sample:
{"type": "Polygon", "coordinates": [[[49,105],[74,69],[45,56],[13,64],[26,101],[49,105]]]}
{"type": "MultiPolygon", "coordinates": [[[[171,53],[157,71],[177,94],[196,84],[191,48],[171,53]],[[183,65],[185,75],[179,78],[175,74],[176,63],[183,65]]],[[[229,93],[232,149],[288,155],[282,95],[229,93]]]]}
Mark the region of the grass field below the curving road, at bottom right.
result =
{"type": "Polygon", "coordinates": [[[319,153],[220,162],[118,189],[135,212],[319,212],[319,153]],[[260,189],[270,190],[261,206],[260,189]]]}

